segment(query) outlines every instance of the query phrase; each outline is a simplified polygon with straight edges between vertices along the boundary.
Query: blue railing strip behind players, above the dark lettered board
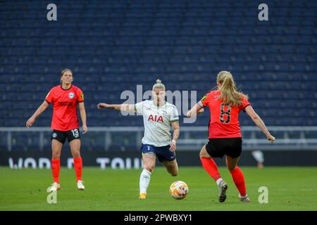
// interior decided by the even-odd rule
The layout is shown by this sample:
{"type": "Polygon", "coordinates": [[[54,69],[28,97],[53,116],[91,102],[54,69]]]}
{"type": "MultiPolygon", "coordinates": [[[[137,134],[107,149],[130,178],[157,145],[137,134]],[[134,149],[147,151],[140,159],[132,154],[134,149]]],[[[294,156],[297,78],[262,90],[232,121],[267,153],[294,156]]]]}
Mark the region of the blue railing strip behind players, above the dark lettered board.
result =
{"type": "MultiPolygon", "coordinates": [[[[258,127],[242,127],[244,150],[317,150],[317,127],[268,127],[271,144],[258,127]]],[[[82,146],[89,150],[135,150],[143,127],[89,127],[82,146]]],[[[0,150],[50,150],[49,127],[0,127],[0,150]]],[[[208,141],[207,127],[180,127],[178,150],[193,150],[208,141]]]]}

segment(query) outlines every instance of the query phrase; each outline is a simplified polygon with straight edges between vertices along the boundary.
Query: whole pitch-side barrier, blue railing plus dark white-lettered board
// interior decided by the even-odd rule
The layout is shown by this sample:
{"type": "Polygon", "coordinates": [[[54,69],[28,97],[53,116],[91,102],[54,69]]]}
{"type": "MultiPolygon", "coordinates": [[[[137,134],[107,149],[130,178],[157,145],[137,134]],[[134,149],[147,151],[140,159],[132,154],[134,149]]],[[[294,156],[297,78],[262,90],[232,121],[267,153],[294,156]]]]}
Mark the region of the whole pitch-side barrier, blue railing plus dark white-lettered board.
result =
{"type": "MultiPolygon", "coordinates": [[[[266,166],[317,166],[317,127],[268,127],[271,144],[257,127],[242,127],[242,166],[256,166],[254,151],[261,152],[266,166]]],[[[143,127],[89,127],[82,135],[85,166],[101,169],[140,169],[143,127]]],[[[51,167],[49,127],[1,127],[0,166],[14,169],[51,167]]],[[[206,127],[180,127],[177,159],[181,166],[201,166],[199,150],[208,140],[206,127]]],[[[66,141],[61,165],[72,168],[66,141]]],[[[225,160],[218,160],[224,166],[225,160]]],[[[157,162],[158,165],[159,162],[157,162]]]]}

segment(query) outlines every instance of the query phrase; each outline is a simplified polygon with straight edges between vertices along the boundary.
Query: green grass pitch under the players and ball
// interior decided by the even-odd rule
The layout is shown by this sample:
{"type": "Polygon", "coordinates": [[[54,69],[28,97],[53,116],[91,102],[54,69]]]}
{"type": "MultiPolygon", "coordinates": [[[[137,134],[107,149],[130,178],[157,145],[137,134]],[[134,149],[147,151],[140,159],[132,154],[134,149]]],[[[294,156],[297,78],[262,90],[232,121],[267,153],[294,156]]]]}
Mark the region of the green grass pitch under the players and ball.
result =
{"type": "Polygon", "coordinates": [[[85,191],[77,191],[74,169],[61,169],[61,191],[57,203],[46,203],[51,184],[50,169],[0,167],[0,210],[317,210],[317,167],[242,167],[251,203],[238,201],[237,189],[227,169],[220,174],[229,188],[225,203],[218,203],[218,189],[204,169],[180,167],[170,176],[157,167],[151,176],[146,200],[139,200],[141,169],[85,167],[85,191]],[[185,181],[189,194],[183,200],[169,195],[173,181],[185,181]],[[258,202],[260,186],[268,188],[268,204],[258,202]]]}

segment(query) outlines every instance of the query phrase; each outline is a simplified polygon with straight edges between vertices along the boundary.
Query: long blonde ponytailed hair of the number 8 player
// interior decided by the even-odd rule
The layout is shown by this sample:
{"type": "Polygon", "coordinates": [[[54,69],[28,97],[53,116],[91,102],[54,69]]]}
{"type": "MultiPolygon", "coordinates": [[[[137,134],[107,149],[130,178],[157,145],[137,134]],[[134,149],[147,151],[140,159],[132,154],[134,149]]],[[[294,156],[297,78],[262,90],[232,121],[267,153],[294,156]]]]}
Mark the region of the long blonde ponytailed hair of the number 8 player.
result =
{"type": "Polygon", "coordinates": [[[243,98],[248,99],[247,95],[243,94],[240,91],[237,91],[235,80],[233,79],[230,72],[220,71],[217,75],[217,82],[221,84],[219,87],[219,99],[223,102],[223,104],[240,106],[242,104],[243,98]]]}

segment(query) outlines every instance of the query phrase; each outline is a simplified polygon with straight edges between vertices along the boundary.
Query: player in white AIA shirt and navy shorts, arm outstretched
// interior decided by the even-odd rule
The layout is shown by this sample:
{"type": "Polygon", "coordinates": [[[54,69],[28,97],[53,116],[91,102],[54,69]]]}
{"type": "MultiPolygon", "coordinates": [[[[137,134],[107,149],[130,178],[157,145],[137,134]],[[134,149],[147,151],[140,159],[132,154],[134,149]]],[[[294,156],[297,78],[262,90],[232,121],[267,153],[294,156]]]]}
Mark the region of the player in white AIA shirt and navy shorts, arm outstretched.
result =
{"type": "Polygon", "coordinates": [[[99,103],[97,107],[111,108],[143,115],[144,137],[142,139],[142,161],[144,169],[139,177],[139,198],[147,198],[147,188],[155,167],[156,157],[172,176],[178,175],[178,163],[175,159],[176,142],[180,135],[178,110],[175,105],[165,101],[165,86],[157,79],[152,87],[152,100],[135,105],[109,105],[99,103]],[[173,139],[170,134],[173,127],[173,139]]]}

